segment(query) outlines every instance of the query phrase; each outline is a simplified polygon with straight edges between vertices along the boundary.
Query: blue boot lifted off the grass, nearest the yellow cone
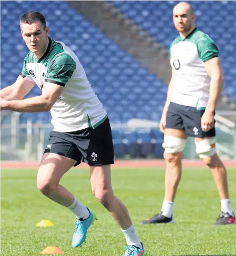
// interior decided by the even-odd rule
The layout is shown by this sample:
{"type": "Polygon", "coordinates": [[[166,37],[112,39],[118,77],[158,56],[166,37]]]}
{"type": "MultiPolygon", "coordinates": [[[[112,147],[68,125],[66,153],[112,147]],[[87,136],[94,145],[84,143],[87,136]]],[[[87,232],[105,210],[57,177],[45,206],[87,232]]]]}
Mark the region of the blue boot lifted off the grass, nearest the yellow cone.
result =
{"type": "MultiPolygon", "coordinates": [[[[87,208],[88,209],[88,208],[87,208]]],[[[89,210],[89,209],[88,209],[89,210]]],[[[76,248],[78,246],[81,247],[81,244],[85,242],[85,239],[87,237],[87,230],[90,227],[91,224],[94,223],[95,220],[97,220],[96,214],[89,210],[89,217],[85,220],[79,219],[75,222],[75,232],[73,234],[73,238],[71,241],[71,246],[76,248]]]]}

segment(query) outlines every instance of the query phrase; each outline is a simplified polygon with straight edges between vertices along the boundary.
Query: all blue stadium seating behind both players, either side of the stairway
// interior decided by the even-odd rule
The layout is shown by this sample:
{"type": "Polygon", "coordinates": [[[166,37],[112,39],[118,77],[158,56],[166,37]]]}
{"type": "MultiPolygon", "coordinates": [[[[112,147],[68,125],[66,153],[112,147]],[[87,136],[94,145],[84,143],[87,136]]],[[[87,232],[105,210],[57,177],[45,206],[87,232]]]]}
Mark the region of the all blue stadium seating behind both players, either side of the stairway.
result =
{"type": "MultiPolygon", "coordinates": [[[[172,24],[175,1],[109,3],[113,3],[166,48],[178,35],[172,24]]],[[[236,102],[236,23],[233,15],[236,2],[205,1],[202,5],[200,1],[193,1],[191,4],[197,15],[198,28],[208,33],[220,48],[225,74],[224,93],[236,102]],[[224,33],[225,30],[228,33],[224,33]]],[[[130,118],[160,119],[166,100],[165,84],[64,1],[47,2],[47,8],[44,1],[1,3],[2,88],[14,83],[28,53],[19,31],[19,18],[28,11],[41,12],[50,27],[50,37],[63,41],[79,57],[111,123],[124,123],[130,118]]],[[[40,89],[35,86],[27,97],[39,94],[40,89]]],[[[28,118],[39,124],[48,124],[51,119],[49,112],[20,114],[21,123],[25,124],[28,118]]],[[[117,157],[124,157],[127,153],[131,157],[147,157],[153,152],[155,156],[162,157],[163,135],[158,129],[112,129],[112,134],[117,157]]]]}

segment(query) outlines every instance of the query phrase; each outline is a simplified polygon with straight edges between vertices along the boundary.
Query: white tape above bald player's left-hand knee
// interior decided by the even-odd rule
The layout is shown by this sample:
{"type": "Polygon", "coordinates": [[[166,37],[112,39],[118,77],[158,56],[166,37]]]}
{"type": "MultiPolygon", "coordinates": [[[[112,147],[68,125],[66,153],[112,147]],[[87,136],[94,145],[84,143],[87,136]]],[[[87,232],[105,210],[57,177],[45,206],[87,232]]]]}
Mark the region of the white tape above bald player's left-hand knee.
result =
{"type": "Polygon", "coordinates": [[[167,153],[177,153],[183,151],[185,144],[186,139],[165,135],[162,147],[165,148],[167,153]]]}

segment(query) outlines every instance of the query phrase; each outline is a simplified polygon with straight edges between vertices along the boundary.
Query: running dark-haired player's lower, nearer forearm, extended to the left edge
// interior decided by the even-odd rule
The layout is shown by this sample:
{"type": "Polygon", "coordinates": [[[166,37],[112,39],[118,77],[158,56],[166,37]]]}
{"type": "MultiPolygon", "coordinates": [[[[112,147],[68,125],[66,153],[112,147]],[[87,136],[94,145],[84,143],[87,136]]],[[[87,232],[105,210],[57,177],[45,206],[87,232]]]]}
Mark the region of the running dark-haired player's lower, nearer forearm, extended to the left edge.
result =
{"type": "Polygon", "coordinates": [[[46,112],[52,105],[48,103],[48,99],[43,96],[23,100],[5,100],[2,106],[3,110],[12,110],[17,112],[46,112]]]}

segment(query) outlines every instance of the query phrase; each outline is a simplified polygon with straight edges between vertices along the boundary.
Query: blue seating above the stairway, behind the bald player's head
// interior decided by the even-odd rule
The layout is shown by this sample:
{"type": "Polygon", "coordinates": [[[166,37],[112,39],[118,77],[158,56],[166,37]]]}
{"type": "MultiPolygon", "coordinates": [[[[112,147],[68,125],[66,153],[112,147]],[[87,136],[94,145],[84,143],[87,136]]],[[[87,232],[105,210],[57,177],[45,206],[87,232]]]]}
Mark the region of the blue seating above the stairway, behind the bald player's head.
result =
{"type": "MultiPolygon", "coordinates": [[[[187,1],[188,2],[188,1],[187,1]]],[[[114,6],[141,26],[150,36],[169,48],[178,36],[172,22],[177,1],[114,1],[114,6]]],[[[191,1],[197,27],[210,35],[220,49],[225,75],[224,93],[236,102],[235,1],[191,1]],[[217,13],[217,15],[216,15],[217,13]],[[225,33],[227,31],[227,33],[225,33]]]]}

